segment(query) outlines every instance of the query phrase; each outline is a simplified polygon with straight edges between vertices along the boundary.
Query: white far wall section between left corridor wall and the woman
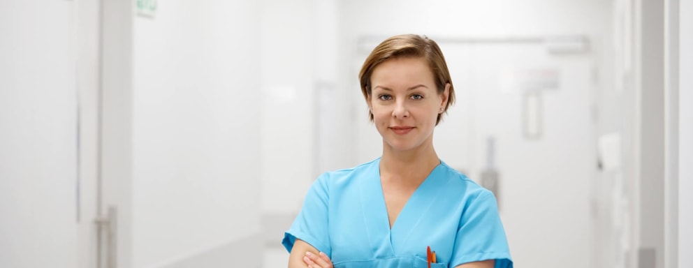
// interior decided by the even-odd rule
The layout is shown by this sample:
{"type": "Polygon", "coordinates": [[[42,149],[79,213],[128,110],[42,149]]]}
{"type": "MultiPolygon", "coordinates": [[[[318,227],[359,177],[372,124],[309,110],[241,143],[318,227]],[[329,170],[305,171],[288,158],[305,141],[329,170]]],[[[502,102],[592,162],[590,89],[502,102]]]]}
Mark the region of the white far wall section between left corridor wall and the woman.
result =
{"type": "Polygon", "coordinates": [[[341,92],[337,2],[262,1],[262,214],[269,246],[280,246],[309,185],[336,169],[349,148],[341,131],[349,127],[346,104],[333,101],[341,92]]]}

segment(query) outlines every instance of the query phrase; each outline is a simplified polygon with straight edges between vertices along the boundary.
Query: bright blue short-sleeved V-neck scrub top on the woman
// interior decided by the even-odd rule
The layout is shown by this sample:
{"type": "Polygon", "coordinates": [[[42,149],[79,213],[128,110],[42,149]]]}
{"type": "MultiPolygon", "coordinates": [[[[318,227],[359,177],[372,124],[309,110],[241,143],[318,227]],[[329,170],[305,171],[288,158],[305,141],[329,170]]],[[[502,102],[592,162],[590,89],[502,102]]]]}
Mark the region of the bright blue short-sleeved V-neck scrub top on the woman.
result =
{"type": "Polygon", "coordinates": [[[380,158],[322,174],[284,234],[291,252],[301,239],[340,267],[456,267],[495,259],[512,268],[493,193],[441,161],[411,195],[392,229],[380,183],[380,158]]]}

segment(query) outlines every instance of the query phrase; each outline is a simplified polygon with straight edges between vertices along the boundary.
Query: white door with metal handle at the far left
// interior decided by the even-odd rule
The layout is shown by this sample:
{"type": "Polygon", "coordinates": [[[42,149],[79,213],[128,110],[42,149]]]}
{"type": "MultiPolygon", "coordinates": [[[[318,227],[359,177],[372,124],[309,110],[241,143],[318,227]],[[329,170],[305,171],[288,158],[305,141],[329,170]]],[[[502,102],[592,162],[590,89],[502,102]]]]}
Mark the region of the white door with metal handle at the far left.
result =
{"type": "Polygon", "coordinates": [[[0,2],[0,267],[99,267],[99,2],[0,2]]]}

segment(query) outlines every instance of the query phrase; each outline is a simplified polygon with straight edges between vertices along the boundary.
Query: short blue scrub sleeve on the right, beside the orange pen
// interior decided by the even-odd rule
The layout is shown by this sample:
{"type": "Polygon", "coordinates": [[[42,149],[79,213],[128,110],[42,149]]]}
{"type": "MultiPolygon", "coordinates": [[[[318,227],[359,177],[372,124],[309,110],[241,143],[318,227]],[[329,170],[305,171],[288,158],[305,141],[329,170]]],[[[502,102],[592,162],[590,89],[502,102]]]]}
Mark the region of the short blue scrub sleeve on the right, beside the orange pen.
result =
{"type": "Polygon", "coordinates": [[[486,189],[462,212],[450,267],[481,260],[495,260],[495,268],[513,267],[496,199],[486,189]]]}

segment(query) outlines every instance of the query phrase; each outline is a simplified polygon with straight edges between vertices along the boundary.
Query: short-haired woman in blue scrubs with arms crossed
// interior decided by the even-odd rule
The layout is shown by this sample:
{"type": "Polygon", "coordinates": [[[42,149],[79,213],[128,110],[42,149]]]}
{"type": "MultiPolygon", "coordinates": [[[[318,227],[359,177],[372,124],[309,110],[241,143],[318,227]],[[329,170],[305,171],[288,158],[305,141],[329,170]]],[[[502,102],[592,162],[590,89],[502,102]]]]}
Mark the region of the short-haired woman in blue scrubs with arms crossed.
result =
{"type": "Polygon", "coordinates": [[[289,267],[513,267],[493,194],[433,148],[455,100],[438,45],[388,38],[359,79],[383,154],[314,182],[284,234],[289,267]]]}

